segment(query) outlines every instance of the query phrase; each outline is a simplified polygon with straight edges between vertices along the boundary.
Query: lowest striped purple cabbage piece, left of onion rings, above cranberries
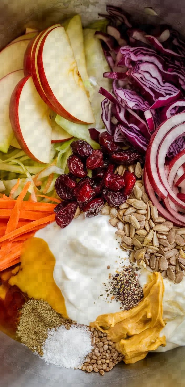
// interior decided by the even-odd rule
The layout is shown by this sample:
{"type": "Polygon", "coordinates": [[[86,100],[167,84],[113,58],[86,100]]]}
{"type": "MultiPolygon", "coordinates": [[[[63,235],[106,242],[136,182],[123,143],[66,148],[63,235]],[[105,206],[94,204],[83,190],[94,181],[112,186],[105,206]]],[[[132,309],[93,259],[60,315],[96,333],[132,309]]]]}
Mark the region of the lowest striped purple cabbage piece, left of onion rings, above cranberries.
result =
{"type": "Polygon", "coordinates": [[[125,135],[128,141],[137,149],[139,152],[145,153],[147,150],[148,141],[139,132],[133,129],[127,128],[124,125],[119,125],[120,132],[125,135]]]}

